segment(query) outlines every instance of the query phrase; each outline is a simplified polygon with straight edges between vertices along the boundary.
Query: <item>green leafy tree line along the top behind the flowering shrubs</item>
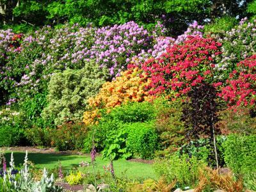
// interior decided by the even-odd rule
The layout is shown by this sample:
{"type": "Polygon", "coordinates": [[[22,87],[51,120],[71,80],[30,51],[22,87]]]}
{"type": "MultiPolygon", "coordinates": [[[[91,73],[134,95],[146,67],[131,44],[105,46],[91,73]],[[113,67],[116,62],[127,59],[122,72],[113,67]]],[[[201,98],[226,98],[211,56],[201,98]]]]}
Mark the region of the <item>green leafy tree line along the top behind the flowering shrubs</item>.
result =
{"type": "Polygon", "coordinates": [[[193,20],[241,19],[253,15],[255,6],[253,0],[0,0],[0,24],[22,32],[65,22],[106,26],[134,20],[150,28],[161,20],[170,34],[179,35],[193,20]]]}

